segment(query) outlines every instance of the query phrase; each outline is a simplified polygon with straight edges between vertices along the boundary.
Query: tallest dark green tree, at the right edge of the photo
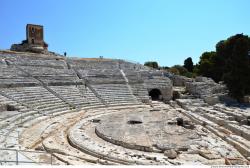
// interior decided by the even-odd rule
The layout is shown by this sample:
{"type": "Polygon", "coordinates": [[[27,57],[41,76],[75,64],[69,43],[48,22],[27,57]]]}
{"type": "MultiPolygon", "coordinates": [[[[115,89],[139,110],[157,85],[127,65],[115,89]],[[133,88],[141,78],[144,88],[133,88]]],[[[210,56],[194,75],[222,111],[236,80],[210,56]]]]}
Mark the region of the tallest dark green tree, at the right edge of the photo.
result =
{"type": "MultiPolygon", "coordinates": [[[[232,97],[241,101],[250,93],[250,39],[237,34],[224,41],[224,58],[226,58],[222,79],[232,97]]],[[[221,48],[218,48],[221,49],[221,48]]]]}

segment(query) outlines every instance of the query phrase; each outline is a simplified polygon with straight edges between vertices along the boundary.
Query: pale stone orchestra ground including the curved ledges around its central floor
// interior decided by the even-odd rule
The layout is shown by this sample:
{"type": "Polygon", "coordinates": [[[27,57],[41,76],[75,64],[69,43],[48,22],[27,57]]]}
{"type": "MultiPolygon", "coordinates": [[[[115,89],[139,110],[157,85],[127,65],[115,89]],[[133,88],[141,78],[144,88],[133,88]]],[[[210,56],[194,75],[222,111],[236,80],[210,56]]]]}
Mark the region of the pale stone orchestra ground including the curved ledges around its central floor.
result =
{"type": "MultiPolygon", "coordinates": [[[[189,112],[177,104],[153,102],[153,107],[89,109],[76,113],[77,121],[71,116],[68,124],[66,116],[58,116],[56,120],[66,120],[54,132],[56,125],[39,123],[49,125],[33,149],[41,146],[66,164],[247,164],[242,150],[219,136],[221,129],[198,124],[189,112]]],[[[35,135],[39,128],[35,124],[28,132],[35,135]]]]}

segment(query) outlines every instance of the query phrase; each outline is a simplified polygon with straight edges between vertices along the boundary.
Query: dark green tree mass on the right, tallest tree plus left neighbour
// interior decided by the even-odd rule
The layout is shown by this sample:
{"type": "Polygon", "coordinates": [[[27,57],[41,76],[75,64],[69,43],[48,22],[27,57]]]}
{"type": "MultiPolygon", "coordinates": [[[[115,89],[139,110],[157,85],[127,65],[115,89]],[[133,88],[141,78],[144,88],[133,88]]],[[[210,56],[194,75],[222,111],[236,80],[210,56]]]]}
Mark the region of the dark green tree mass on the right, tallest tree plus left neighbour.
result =
{"type": "Polygon", "coordinates": [[[250,94],[250,38],[236,34],[216,44],[216,52],[205,52],[195,71],[211,77],[216,82],[224,81],[229,94],[241,101],[250,94]]]}

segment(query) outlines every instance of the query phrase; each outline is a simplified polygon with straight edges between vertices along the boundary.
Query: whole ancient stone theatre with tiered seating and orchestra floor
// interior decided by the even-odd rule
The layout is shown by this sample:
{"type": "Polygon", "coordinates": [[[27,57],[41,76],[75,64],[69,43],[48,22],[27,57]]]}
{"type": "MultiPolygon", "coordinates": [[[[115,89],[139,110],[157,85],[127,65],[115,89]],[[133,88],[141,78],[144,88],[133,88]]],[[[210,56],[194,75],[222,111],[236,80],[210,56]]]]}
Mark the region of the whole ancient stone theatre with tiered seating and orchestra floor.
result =
{"type": "Polygon", "coordinates": [[[0,163],[249,164],[226,88],[118,59],[0,51],[0,163]]]}

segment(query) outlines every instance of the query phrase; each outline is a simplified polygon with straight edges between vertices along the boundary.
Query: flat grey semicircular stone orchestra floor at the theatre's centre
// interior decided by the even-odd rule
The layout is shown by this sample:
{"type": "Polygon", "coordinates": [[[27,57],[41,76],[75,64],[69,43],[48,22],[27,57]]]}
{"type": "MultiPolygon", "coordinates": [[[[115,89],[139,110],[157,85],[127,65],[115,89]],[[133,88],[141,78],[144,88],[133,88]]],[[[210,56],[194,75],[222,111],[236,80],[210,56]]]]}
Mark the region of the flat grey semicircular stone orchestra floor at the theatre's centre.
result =
{"type": "Polygon", "coordinates": [[[155,147],[161,151],[187,151],[192,141],[199,138],[193,129],[185,116],[178,115],[169,106],[161,105],[153,112],[145,109],[136,114],[106,116],[96,126],[95,132],[101,138],[127,148],[152,151],[155,147]],[[167,109],[168,113],[162,109],[167,109]],[[178,119],[181,119],[181,124],[178,124],[178,119]],[[136,122],[130,124],[129,121],[136,122]]]}

